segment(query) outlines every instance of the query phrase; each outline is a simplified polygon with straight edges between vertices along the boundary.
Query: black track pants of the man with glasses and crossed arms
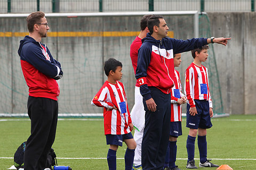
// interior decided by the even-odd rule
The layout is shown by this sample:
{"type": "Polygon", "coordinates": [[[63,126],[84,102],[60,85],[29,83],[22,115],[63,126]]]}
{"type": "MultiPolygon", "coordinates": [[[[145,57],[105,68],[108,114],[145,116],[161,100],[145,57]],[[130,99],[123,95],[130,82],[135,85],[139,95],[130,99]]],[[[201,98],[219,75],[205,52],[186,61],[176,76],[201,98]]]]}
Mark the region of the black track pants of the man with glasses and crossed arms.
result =
{"type": "Polygon", "coordinates": [[[31,134],[24,155],[25,170],[43,170],[53,145],[58,121],[58,101],[28,97],[31,134]]]}

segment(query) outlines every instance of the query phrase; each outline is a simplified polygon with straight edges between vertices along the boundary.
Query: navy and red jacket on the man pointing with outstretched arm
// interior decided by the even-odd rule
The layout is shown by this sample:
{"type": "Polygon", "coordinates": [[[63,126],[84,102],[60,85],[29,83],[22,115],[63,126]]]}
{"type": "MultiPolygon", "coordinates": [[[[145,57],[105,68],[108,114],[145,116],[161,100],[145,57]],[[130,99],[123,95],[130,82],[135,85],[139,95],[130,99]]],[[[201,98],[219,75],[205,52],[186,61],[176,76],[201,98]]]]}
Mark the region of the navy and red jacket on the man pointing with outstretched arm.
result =
{"type": "Polygon", "coordinates": [[[172,79],[175,76],[173,54],[187,52],[206,44],[207,38],[156,40],[150,33],[147,33],[138,51],[135,75],[137,83],[140,84],[141,95],[146,100],[151,98],[148,87],[156,87],[164,94],[169,94],[174,84],[172,79]]]}

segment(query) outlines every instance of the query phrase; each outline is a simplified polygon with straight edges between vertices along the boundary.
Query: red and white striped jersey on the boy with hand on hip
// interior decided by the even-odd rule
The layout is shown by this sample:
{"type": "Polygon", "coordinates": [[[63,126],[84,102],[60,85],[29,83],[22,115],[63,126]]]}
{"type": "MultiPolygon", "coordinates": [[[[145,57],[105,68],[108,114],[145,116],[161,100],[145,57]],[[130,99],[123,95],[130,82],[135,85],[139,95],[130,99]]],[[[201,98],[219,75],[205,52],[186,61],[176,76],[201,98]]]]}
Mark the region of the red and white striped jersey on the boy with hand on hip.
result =
{"type": "Polygon", "coordinates": [[[124,85],[116,81],[112,84],[106,81],[100,91],[91,101],[94,106],[104,107],[104,130],[106,134],[126,134],[130,133],[129,124],[132,123],[127,105],[124,85]],[[116,109],[107,111],[115,106],[116,109]]]}

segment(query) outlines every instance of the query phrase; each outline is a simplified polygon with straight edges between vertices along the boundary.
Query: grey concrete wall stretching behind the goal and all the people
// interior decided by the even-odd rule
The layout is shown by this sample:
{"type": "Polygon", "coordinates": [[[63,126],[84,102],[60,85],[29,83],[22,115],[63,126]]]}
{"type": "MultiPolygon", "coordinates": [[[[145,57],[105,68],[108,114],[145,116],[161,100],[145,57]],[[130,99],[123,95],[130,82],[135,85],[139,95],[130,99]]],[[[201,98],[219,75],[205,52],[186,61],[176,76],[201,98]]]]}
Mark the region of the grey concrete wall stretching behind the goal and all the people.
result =
{"type": "MultiPolygon", "coordinates": [[[[255,20],[256,13],[209,13],[211,35],[232,37],[228,46],[214,44],[222,104],[225,113],[255,114],[255,20]]],[[[47,18],[49,32],[62,31],[139,31],[141,16],[47,18]]],[[[174,38],[194,37],[193,17],[165,16],[174,38]]],[[[27,32],[25,18],[0,18],[0,32],[27,32]]],[[[23,37],[0,37],[0,113],[26,113],[28,87],[17,54],[23,37]]],[[[59,113],[102,113],[90,105],[91,99],[107,80],[103,62],[114,57],[123,63],[123,79],[130,111],[134,104],[134,72],[130,45],[135,37],[47,37],[43,43],[62,65],[59,81],[59,113]]],[[[209,56],[210,58],[211,56],[209,56]]],[[[182,84],[184,72],[193,61],[189,52],[182,54],[178,68],[182,84]]],[[[212,62],[211,62],[212,63],[212,62]]],[[[214,91],[211,91],[213,94],[214,91]]],[[[183,106],[185,112],[186,106],[183,106]]]]}

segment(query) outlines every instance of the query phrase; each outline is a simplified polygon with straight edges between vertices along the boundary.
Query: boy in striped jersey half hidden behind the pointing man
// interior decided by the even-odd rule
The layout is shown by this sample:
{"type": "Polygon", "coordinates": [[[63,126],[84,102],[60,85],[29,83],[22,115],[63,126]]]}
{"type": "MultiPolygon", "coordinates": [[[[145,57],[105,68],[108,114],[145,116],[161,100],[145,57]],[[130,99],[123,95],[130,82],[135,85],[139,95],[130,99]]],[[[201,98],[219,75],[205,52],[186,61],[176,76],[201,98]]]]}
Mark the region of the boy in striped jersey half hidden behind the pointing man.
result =
{"type": "MultiPolygon", "coordinates": [[[[179,67],[181,64],[181,54],[173,55],[174,67],[179,67]]],[[[174,86],[171,90],[171,129],[169,137],[169,145],[167,146],[167,152],[165,157],[165,170],[180,170],[178,166],[175,165],[176,155],[177,155],[177,138],[182,135],[181,129],[181,105],[185,104],[187,99],[185,95],[182,94],[180,73],[174,69],[174,86]]]]}

